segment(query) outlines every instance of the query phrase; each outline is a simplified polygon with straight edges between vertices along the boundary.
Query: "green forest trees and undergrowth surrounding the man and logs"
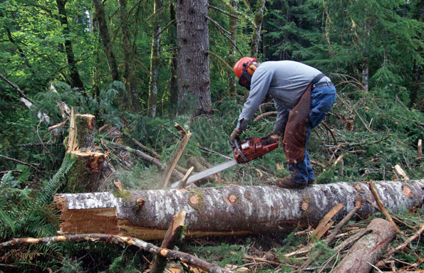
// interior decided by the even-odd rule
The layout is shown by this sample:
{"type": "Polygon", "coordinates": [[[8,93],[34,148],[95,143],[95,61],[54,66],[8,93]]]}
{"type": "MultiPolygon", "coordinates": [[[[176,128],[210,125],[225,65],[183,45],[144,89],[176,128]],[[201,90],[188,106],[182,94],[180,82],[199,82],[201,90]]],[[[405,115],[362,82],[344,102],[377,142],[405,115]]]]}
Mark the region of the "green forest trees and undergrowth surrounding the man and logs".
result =
{"type": "MultiPolygon", "coordinates": [[[[336,104],[309,141],[318,183],[391,180],[395,165],[423,178],[423,1],[194,2],[0,1],[0,241],[58,230],[50,204],[66,180],[68,136],[67,127],[48,130],[66,120],[58,103],[117,132],[95,134],[115,170],[104,177],[105,190],[117,180],[124,188],[158,188],[156,166],[101,140],[137,149],[135,139],[166,163],[177,146],[177,122],[193,133],[182,166],[190,157],[205,166],[227,160],[222,155],[231,156],[227,139],[247,96],[232,67],[247,55],[300,61],[335,83],[336,104]],[[191,20],[198,24],[187,26],[191,20]]],[[[257,114],[269,111],[274,107],[264,102],[257,114]]],[[[244,135],[265,135],[274,121],[251,122],[244,135]]],[[[221,182],[271,184],[288,173],[284,166],[280,148],[222,173],[221,182]]],[[[293,238],[281,237],[281,247],[296,245],[293,238]]],[[[187,242],[185,250],[242,264],[259,239],[187,242]]],[[[23,246],[0,252],[0,264],[11,264],[0,271],[134,272],[148,266],[136,253],[94,243],[23,246]]]]}

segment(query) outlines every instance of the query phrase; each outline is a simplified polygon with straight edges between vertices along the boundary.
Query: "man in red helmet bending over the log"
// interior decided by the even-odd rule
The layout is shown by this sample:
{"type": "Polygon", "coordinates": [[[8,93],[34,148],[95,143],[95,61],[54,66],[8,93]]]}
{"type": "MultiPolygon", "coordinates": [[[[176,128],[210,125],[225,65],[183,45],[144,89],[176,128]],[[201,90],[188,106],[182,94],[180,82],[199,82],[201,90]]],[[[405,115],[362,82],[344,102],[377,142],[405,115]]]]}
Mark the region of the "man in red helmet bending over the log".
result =
{"type": "Polygon", "coordinates": [[[333,83],[316,68],[291,60],[269,61],[260,65],[256,59],[244,57],[234,65],[239,84],[246,87],[249,97],[239,115],[231,140],[246,129],[264,98],[273,98],[277,117],[274,129],[267,137],[282,143],[291,175],[279,178],[276,184],[283,188],[304,188],[314,183],[306,144],[311,129],[330,111],[336,100],[333,83]]]}

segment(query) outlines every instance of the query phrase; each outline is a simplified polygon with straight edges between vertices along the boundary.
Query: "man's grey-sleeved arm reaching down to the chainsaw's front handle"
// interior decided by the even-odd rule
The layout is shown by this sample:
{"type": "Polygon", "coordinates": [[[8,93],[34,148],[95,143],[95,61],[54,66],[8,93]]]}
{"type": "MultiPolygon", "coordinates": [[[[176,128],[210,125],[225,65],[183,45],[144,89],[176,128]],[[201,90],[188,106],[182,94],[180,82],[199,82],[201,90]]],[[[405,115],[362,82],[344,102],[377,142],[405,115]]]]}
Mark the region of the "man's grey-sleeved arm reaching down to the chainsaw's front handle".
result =
{"type": "Polygon", "coordinates": [[[249,97],[244,102],[242,113],[239,115],[239,122],[237,123],[237,129],[245,130],[247,124],[257,112],[259,105],[264,100],[268,93],[269,85],[272,81],[272,72],[269,70],[260,69],[260,67],[254,72],[252,77],[252,85],[250,86],[249,97]]]}

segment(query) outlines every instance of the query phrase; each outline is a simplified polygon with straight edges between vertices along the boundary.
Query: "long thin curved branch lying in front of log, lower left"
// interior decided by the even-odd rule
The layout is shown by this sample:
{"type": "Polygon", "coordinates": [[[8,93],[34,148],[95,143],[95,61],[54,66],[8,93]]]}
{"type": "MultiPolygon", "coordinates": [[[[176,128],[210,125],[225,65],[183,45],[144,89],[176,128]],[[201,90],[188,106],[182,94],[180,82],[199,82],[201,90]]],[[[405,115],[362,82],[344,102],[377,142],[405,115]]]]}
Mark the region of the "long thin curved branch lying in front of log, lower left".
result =
{"type": "Polygon", "coordinates": [[[166,248],[157,247],[156,245],[152,245],[149,242],[145,242],[138,238],[133,237],[124,237],[118,235],[109,235],[109,234],[81,234],[81,235],[60,235],[53,237],[42,237],[42,238],[19,238],[13,239],[7,242],[1,242],[0,247],[12,247],[15,245],[21,244],[51,244],[55,242],[81,242],[81,241],[91,241],[91,242],[108,242],[114,243],[117,245],[127,244],[127,245],[135,245],[136,247],[140,247],[143,250],[146,250],[152,254],[155,254],[159,257],[164,257],[165,259],[170,259],[172,261],[180,261],[185,262],[186,264],[190,264],[194,267],[205,270],[206,272],[214,272],[214,273],[223,273],[223,272],[231,272],[222,267],[218,267],[216,264],[210,264],[209,262],[205,262],[202,259],[199,259],[193,255],[176,251],[176,250],[168,250],[166,248]]]}

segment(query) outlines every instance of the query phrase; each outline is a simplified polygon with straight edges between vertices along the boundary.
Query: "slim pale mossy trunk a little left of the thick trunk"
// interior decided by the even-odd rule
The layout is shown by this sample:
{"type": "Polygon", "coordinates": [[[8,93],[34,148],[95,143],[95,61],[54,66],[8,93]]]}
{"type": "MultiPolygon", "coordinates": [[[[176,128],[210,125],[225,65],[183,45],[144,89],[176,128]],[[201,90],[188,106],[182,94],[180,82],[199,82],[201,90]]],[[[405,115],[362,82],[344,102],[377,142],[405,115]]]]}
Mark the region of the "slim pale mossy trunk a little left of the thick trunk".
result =
{"type": "Polygon", "coordinates": [[[152,49],[150,55],[150,82],[149,82],[149,100],[148,107],[149,117],[156,116],[156,107],[157,107],[157,75],[159,74],[159,64],[160,64],[160,31],[162,28],[160,26],[161,16],[157,14],[157,10],[162,8],[162,1],[155,0],[153,13],[155,18],[152,23],[152,49]]]}

